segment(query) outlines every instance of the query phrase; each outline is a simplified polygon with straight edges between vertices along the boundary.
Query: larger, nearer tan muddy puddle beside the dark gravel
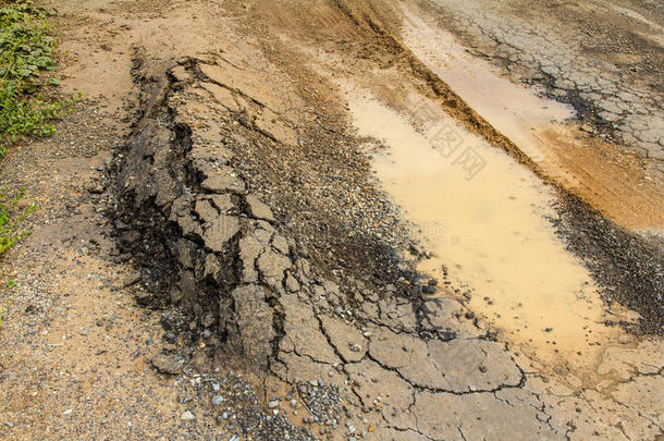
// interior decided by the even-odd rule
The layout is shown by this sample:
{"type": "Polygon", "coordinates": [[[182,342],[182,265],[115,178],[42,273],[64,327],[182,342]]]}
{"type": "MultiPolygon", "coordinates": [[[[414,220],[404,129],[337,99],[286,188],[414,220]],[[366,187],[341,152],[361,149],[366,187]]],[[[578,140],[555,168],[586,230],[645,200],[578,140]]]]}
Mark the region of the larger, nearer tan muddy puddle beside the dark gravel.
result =
{"type": "Polygon", "coordinates": [[[359,134],[384,146],[373,158],[384,189],[432,252],[420,270],[464,287],[476,314],[540,360],[586,368],[618,339],[617,328],[602,324],[616,316],[555,233],[551,188],[444,114],[416,130],[370,96],[347,95],[359,134]],[[460,138],[451,154],[434,140],[441,127],[460,138]]]}

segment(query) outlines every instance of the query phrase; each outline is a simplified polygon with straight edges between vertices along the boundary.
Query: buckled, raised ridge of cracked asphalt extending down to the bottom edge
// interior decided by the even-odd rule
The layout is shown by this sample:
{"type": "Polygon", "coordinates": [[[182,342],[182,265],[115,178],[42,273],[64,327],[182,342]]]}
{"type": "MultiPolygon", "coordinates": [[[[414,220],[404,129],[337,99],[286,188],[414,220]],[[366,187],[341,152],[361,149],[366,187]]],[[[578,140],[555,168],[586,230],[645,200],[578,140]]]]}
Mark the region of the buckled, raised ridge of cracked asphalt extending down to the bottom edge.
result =
{"type": "Polygon", "coordinates": [[[175,305],[182,319],[165,313],[167,330],[290,384],[311,422],[345,424],[349,436],[475,439],[490,427],[561,438],[521,368],[460,303],[427,299],[404,277],[340,287],[339,273],[312,268],[243,177],[242,134],[279,144],[287,123],[266,124],[270,109],[208,63],[183,60],[157,82],[115,158],[119,241],[148,286],[138,301],[175,305]]]}

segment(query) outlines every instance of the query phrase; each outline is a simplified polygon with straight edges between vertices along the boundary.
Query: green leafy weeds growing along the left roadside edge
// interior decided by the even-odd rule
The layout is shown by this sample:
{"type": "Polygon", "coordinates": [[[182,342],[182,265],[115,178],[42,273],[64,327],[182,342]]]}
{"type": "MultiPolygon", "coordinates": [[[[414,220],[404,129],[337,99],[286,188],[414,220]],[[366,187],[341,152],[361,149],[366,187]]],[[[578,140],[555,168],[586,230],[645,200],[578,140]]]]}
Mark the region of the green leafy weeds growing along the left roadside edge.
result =
{"type": "MultiPolygon", "coordinates": [[[[71,109],[74,99],[42,98],[45,85],[59,79],[46,75],[57,66],[48,13],[32,0],[0,0],[0,158],[21,137],[50,136],[53,120],[71,109]]],[[[0,255],[25,236],[21,223],[35,209],[20,209],[24,191],[0,188],[0,255]]]]}

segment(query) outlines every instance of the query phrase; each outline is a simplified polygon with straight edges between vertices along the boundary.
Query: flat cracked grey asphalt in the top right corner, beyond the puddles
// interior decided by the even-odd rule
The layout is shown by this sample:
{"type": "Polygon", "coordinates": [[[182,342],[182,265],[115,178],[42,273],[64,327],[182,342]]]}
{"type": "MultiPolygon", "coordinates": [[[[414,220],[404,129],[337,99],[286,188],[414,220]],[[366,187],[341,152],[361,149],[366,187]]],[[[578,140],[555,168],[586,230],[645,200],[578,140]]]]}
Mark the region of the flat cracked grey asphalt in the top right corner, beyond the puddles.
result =
{"type": "Polygon", "coordinates": [[[599,136],[664,170],[664,28],[653,1],[430,1],[441,25],[517,82],[570,103],[599,136]]]}

